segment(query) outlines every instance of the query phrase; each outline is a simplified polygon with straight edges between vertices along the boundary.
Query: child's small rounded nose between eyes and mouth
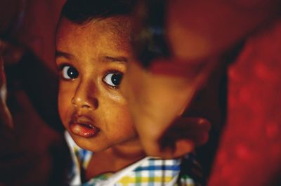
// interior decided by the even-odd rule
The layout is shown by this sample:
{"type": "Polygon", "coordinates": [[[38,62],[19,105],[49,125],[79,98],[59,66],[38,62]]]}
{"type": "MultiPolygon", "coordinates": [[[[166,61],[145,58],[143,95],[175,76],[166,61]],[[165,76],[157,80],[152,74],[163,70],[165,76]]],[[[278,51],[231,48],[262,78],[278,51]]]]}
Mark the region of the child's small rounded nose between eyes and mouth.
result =
{"type": "Polygon", "coordinates": [[[79,109],[97,109],[98,108],[98,92],[97,87],[92,81],[79,82],[74,96],[72,97],[72,105],[79,109]]]}

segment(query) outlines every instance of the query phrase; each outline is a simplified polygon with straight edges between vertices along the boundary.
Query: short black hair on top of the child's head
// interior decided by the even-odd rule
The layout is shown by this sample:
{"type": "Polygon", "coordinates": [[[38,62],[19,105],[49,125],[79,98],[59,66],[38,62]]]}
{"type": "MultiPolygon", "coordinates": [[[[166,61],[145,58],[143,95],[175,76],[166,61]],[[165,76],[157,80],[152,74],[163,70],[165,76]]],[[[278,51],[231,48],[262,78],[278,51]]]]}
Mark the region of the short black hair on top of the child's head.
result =
{"type": "Polygon", "coordinates": [[[60,18],[80,25],[93,19],[130,15],[135,5],[136,0],[67,0],[60,18]]]}

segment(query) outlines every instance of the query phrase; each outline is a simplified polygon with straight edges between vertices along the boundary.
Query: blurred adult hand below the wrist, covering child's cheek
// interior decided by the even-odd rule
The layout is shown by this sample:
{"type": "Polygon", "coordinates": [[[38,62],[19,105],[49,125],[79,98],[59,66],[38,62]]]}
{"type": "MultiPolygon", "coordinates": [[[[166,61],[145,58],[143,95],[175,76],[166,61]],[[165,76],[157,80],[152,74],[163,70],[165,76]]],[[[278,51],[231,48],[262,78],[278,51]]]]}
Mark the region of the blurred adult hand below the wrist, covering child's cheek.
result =
{"type": "MultiPolygon", "coordinates": [[[[176,66],[174,73],[180,74],[178,70],[183,68],[177,69],[176,66]]],[[[198,68],[198,74],[192,76],[187,74],[188,78],[176,75],[170,77],[160,68],[157,68],[157,72],[154,70],[150,72],[137,62],[128,62],[128,73],[126,72],[124,76],[121,88],[128,100],[136,130],[148,155],[163,158],[179,157],[191,152],[195,144],[206,140],[209,131],[207,121],[180,117],[192,95],[197,91],[197,86],[200,86],[202,79],[208,75],[205,73],[206,70],[209,70],[208,65],[203,69],[198,68]],[[192,133],[194,135],[191,136],[192,133]]]]}

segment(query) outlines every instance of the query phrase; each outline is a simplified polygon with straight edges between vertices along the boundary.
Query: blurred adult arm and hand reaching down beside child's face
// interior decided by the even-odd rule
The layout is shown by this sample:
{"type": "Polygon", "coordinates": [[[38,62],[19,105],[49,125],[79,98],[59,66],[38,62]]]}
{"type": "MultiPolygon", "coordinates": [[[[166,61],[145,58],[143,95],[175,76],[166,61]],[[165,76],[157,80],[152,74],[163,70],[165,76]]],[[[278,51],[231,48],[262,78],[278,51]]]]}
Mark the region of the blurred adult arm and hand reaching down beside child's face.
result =
{"type": "MultiPolygon", "coordinates": [[[[195,143],[188,135],[174,138],[174,147],[162,148],[164,133],[181,124],[186,130],[194,126],[194,122],[190,124],[184,118],[178,124],[178,117],[219,65],[221,54],[256,27],[275,18],[279,4],[277,1],[169,1],[166,39],[172,58],[157,59],[149,69],[134,60],[122,81],[122,92],[128,99],[147,154],[171,158],[190,152],[195,143]]],[[[205,126],[204,130],[208,131],[205,126]]]]}

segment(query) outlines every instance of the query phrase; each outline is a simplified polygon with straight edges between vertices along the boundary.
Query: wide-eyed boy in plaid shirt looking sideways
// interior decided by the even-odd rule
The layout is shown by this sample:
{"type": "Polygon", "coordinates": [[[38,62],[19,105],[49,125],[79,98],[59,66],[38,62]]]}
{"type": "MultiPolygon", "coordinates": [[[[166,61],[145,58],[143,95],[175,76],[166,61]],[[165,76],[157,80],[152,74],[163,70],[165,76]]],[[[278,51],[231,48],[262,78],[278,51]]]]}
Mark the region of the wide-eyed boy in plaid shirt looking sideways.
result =
{"type": "Polygon", "coordinates": [[[181,159],[146,157],[119,84],[131,61],[133,1],[67,1],[56,35],[58,107],[70,185],[175,185],[181,159]],[[92,153],[93,152],[93,153],[92,153]]]}

